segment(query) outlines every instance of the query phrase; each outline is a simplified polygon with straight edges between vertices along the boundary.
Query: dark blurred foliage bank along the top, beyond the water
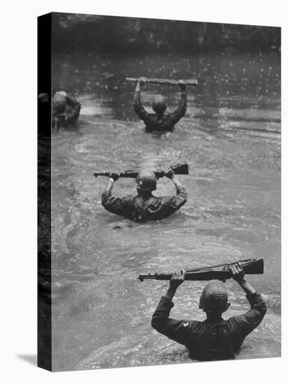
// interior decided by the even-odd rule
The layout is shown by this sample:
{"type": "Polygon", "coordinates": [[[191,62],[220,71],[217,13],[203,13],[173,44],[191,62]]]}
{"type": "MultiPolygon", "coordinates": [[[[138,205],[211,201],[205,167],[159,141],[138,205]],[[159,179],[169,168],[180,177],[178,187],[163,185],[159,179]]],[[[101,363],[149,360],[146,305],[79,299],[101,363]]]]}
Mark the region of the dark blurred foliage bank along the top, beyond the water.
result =
{"type": "Polygon", "coordinates": [[[54,52],[199,52],[279,50],[280,28],[53,14],[54,52]]]}

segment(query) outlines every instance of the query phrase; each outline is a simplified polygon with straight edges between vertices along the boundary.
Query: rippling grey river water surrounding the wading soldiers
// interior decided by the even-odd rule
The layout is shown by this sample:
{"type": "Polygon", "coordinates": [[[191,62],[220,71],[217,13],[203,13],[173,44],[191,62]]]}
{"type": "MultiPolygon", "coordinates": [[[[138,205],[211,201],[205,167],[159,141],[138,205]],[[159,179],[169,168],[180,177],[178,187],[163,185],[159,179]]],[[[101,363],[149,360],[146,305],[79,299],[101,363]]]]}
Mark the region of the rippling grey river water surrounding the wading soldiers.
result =
{"type": "MultiPolygon", "coordinates": [[[[137,274],[265,259],[265,274],[249,276],[268,313],[237,358],[280,355],[280,57],[55,57],[54,90],[77,94],[78,131],[53,137],[53,362],[54,369],[131,367],[190,362],[183,346],[150,325],[168,283],[137,274]],[[188,111],[174,133],[144,133],[131,108],[135,84],[125,77],[197,77],[188,111]],[[131,223],[101,206],[106,178],[95,170],[139,169],[187,161],[180,176],[188,202],[168,219],[131,223]]],[[[155,92],[179,89],[146,85],[155,92]]],[[[169,94],[168,94],[169,93],[169,94]]],[[[114,193],[135,193],[119,179],[114,193]]],[[[174,193],[160,179],[156,195],[174,193]]],[[[205,282],[184,283],[174,318],[204,319],[198,309],[205,282]]],[[[248,309],[227,281],[232,303],[225,317],[248,309]]]]}

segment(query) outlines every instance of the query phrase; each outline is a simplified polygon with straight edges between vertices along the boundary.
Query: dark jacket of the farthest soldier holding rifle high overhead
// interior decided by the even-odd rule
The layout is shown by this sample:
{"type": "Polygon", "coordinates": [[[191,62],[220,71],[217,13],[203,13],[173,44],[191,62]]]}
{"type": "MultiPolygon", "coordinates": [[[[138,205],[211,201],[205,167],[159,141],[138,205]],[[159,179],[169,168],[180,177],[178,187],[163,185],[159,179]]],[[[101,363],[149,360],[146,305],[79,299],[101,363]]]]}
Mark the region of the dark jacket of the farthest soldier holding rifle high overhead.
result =
{"type": "Polygon", "coordinates": [[[155,113],[148,113],[141,101],[140,93],[135,92],[133,108],[140,119],[142,119],[146,126],[146,132],[153,131],[173,131],[174,125],[185,115],[186,112],[186,93],[181,93],[181,101],[179,107],[174,112],[158,116],[155,113]]]}

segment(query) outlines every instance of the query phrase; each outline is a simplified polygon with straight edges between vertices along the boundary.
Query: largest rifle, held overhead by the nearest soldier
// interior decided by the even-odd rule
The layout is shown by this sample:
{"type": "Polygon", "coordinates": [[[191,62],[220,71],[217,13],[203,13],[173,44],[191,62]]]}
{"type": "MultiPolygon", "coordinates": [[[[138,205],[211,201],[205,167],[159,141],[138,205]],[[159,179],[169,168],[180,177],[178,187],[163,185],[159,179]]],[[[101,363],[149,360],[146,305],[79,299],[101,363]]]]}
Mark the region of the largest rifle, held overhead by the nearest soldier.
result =
{"type": "MultiPolygon", "coordinates": [[[[247,260],[239,260],[243,267],[245,274],[263,274],[264,273],[264,259],[263,258],[252,258],[247,260]]],[[[213,265],[213,267],[202,267],[197,269],[191,269],[186,271],[185,280],[221,280],[226,281],[231,279],[232,276],[229,272],[229,266],[235,263],[230,264],[219,264],[213,265]]],[[[172,273],[168,274],[139,274],[137,279],[143,281],[144,279],[156,279],[156,280],[170,280],[172,278],[172,273]]]]}

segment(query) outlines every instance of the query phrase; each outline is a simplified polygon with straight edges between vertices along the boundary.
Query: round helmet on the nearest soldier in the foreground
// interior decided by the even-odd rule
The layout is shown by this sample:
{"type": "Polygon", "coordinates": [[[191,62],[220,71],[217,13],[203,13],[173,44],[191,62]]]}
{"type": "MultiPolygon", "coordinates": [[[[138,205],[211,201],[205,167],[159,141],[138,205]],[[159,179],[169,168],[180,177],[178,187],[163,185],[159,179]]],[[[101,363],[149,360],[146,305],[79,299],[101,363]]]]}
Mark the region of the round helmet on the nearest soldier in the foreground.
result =
{"type": "Polygon", "coordinates": [[[199,308],[205,312],[225,312],[229,308],[226,288],[219,282],[206,285],[200,297],[199,308]]]}

